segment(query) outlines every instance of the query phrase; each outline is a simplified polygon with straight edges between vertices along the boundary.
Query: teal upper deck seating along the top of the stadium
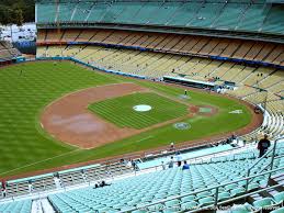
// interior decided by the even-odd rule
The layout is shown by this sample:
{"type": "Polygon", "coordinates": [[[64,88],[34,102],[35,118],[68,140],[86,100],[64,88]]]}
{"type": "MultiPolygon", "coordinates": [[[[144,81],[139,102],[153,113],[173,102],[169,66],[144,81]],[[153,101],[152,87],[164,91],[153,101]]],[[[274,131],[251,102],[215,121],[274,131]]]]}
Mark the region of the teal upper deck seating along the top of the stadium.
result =
{"type": "Polygon", "coordinates": [[[37,24],[100,23],[284,34],[284,8],[252,1],[37,0],[37,24]]]}

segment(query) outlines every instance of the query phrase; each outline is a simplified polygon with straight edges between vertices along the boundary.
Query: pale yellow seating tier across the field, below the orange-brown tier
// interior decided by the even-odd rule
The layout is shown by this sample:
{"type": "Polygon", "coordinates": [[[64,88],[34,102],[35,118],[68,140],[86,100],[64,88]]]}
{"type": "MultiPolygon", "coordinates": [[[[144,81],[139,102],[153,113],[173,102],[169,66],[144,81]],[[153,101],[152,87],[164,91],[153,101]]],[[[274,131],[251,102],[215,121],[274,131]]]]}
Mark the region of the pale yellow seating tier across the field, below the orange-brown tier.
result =
{"type": "MultiPolygon", "coordinates": [[[[228,92],[239,98],[245,98],[257,92],[258,88],[262,88],[271,91],[269,100],[277,100],[281,98],[273,97],[273,94],[283,90],[284,74],[283,70],[276,68],[103,46],[39,46],[37,49],[37,57],[71,56],[88,64],[149,78],[182,75],[190,79],[204,81],[234,81],[240,88],[234,91],[228,90],[228,92]],[[249,89],[242,89],[248,86],[249,89]]],[[[279,111],[283,111],[283,108],[279,111]]]]}

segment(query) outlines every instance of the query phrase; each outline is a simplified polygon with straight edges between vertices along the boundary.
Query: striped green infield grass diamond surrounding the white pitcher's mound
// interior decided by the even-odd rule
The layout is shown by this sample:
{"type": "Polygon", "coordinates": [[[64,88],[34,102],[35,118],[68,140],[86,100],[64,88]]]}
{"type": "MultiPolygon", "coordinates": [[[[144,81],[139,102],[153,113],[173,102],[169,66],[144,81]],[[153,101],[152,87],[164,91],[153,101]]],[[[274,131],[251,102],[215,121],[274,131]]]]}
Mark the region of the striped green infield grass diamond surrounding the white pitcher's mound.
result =
{"type": "Polygon", "coordinates": [[[137,130],[184,116],[189,113],[188,105],[152,92],[133,93],[107,99],[89,105],[89,109],[120,127],[137,130]],[[147,112],[133,110],[133,107],[139,104],[147,104],[152,109],[147,112]]]}

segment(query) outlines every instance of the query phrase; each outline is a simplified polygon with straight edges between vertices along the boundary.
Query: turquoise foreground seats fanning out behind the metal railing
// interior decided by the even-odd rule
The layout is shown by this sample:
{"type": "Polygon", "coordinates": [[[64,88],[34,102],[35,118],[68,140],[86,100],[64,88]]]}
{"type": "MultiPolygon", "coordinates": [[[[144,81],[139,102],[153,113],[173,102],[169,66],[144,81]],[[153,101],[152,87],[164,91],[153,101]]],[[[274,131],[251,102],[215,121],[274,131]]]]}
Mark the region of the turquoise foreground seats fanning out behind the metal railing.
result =
{"type": "MultiPolygon", "coordinates": [[[[283,144],[279,144],[279,148],[283,144]]],[[[279,154],[283,154],[283,149],[277,149],[279,154]]],[[[190,170],[181,170],[180,168],[166,169],[147,175],[140,175],[133,178],[123,179],[114,182],[112,186],[104,188],[84,188],[71,190],[68,192],[49,195],[48,199],[53,206],[59,212],[72,211],[99,211],[99,212],[117,212],[126,211],[134,206],[143,206],[151,202],[162,199],[172,198],[174,195],[183,195],[174,200],[149,206],[145,212],[155,212],[156,208],[169,209],[193,206],[205,206],[214,203],[214,190],[198,192],[202,189],[216,186],[218,183],[228,183],[246,176],[247,168],[254,162],[258,154],[253,150],[245,152],[236,156],[217,157],[207,162],[193,164],[190,170]],[[186,193],[194,192],[192,195],[186,193]]],[[[264,159],[251,172],[258,173],[260,169],[265,167],[269,159],[264,159]]],[[[283,157],[276,158],[275,168],[283,167],[283,157]]],[[[275,172],[277,176],[281,171],[275,172]]],[[[250,191],[268,184],[268,176],[258,177],[249,183],[250,191]]],[[[246,181],[225,184],[219,189],[219,201],[235,198],[245,192],[246,181]]],[[[259,198],[251,205],[254,208],[263,208],[269,198],[259,198]]],[[[269,200],[270,205],[283,202],[283,192],[275,191],[275,194],[269,200]]],[[[178,212],[178,211],[171,211],[178,212]]]]}

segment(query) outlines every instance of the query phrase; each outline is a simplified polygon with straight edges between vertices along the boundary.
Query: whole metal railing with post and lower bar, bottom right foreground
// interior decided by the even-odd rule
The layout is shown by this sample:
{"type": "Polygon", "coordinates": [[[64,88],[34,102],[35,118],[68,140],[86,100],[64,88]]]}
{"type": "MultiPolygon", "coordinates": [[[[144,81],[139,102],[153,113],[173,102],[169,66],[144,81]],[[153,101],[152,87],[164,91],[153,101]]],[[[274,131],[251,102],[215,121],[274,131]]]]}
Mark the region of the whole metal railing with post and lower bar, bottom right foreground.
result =
{"type": "MultiPolygon", "coordinates": [[[[157,202],[152,202],[150,204],[140,205],[138,208],[132,208],[132,209],[128,209],[128,210],[125,210],[125,211],[121,211],[120,213],[128,213],[128,212],[133,212],[133,211],[136,211],[136,210],[148,210],[150,206],[154,206],[154,205],[157,205],[157,204],[162,204],[162,203],[166,203],[166,202],[172,201],[172,200],[180,200],[180,199],[189,197],[189,195],[194,195],[194,194],[197,194],[197,193],[201,193],[201,192],[213,191],[213,190],[215,190],[215,193],[214,193],[215,201],[214,201],[213,204],[208,204],[206,206],[201,206],[198,209],[195,209],[195,210],[192,210],[192,211],[189,211],[189,212],[200,212],[202,210],[208,210],[209,206],[217,210],[217,206],[220,205],[220,204],[228,203],[228,202],[239,200],[239,199],[242,199],[242,198],[247,198],[247,197],[249,197],[253,193],[258,193],[260,191],[266,191],[268,189],[270,189],[270,188],[265,188],[265,189],[257,190],[252,193],[246,193],[245,195],[242,194],[242,195],[238,195],[238,197],[228,199],[226,201],[218,202],[218,191],[219,191],[220,188],[226,187],[228,184],[238,183],[238,182],[241,182],[241,181],[254,179],[257,177],[261,177],[261,176],[264,176],[264,175],[271,175],[275,171],[280,171],[280,170],[283,170],[283,169],[284,169],[284,167],[281,167],[281,168],[273,169],[273,170],[270,170],[270,171],[265,171],[265,172],[262,172],[262,173],[258,173],[258,175],[254,175],[254,176],[251,176],[251,177],[246,177],[246,178],[241,178],[241,179],[238,179],[238,180],[235,180],[235,181],[218,184],[218,186],[215,186],[215,187],[206,188],[206,189],[194,191],[194,192],[191,192],[191,193],[185,193],[183,195],[175,195],[175,197],[172,197],[170,199],[163,199],[163,200],[160,200],[160,201],[157,201],[157,202]]],[[[279,186],[282,186],[282,184],[276,184],[276,186],[271,187],[271,188],[275,188],[275,187],[279,187],[279,186]]],[[[246,192],[248,192],[248,191],[246,191],[246,192]]]]}

